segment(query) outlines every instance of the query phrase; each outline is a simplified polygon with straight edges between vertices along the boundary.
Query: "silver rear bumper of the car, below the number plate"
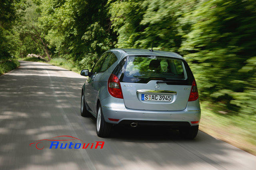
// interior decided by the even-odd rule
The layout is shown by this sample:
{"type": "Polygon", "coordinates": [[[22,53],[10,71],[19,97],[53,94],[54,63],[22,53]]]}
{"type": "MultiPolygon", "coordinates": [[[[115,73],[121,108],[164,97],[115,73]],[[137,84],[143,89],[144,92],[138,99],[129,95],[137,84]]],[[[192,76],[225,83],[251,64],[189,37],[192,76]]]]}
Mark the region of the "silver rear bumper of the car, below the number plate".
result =
{"type": "MultiPolygon", "coordinates": [[[[199,125],[198,123],[191,123],[192,121],[200,121],[201,111],[145,111],[128,108],[113,108],[102,106],[104,119],[108,123],[126,124],[130,122],[141,122],[144,125],[170,125],[170,126],[184,126],[199,125]],[[110,119],[119,119],[118,121],[110,121],[110,119]]],[[[139,125],[139,124],[138,124],[139,125]]]]}

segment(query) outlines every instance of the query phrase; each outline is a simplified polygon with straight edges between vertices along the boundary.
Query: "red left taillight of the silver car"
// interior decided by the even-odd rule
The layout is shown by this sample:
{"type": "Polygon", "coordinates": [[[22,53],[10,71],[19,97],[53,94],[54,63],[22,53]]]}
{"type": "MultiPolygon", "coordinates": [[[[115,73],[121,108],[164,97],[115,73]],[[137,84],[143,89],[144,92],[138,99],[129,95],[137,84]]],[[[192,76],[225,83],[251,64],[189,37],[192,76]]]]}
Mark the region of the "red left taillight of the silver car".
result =
{"type": "Polygon", "coordinates": [[[123,99],[123,93],[118,77],[114,74],[110,74],[108,78],[108,92],[115,98],[123,99]]]}

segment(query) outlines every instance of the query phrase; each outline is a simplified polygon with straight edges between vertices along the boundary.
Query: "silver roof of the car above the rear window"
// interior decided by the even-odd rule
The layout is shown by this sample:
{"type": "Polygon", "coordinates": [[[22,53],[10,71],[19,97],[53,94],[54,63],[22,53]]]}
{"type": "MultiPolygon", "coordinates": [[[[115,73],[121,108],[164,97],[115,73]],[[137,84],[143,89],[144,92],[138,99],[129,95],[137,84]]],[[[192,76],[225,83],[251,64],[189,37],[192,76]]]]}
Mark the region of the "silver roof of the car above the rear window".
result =
{"type": "Polygon", "coordinates": [[[110,49],[108,51],[112,51],[113,53],[116,54],[118,58],[120,57],[120,59],[123,59],[127,55],[156,55],[156,56],[165,56],[165,57],[174,57],[178,59],[184,59],[177,53],[160,51],[160,50],[154,50],[152,52],[152,51],[149,51],[148,49],[110,49]]]}

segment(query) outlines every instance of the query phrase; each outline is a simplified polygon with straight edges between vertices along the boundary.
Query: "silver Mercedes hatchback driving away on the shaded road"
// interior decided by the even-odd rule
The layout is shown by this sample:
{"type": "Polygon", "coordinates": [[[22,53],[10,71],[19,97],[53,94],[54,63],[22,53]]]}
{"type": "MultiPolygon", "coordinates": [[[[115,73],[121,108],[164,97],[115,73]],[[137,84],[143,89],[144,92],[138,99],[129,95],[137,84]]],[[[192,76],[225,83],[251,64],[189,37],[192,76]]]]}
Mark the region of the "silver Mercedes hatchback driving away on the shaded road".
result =
{"type": "Polygon", "coordinates": [[[97,119],[99,137],[114,125],[177,128],[194,139],[201,116],[196,81],[180,55],[145,49],[111,49],[101,55],[82,87],[81,115],[97,119]]]}

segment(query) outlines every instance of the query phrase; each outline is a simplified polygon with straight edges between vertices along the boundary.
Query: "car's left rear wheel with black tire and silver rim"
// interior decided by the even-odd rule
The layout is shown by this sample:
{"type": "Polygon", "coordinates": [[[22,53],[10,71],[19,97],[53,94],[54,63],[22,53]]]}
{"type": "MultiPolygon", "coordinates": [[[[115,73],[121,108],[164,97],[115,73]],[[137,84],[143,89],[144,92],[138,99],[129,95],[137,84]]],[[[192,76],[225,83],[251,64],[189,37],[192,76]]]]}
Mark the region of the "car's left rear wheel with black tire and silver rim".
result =
{"type": "Polygon", "coordinates": [[[97,132],[98,137],[109,137],[111,129],[112,129],[112,124],[107,123],[105,121],[100,104],[98,104],[98,107],[97,107],[97,117],[96,118],[97,118],[96,132],[97,132]],[[99,113],[99,109],[100,109],[100,113],[99,113]],[[98,117],[98,114],[100,114],[100,117],[98,117]],[[100,120],[100,123],[99,123],[100,126],[98,127],[99,120],[100,120]]]}

